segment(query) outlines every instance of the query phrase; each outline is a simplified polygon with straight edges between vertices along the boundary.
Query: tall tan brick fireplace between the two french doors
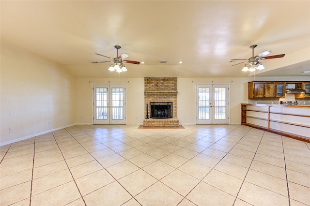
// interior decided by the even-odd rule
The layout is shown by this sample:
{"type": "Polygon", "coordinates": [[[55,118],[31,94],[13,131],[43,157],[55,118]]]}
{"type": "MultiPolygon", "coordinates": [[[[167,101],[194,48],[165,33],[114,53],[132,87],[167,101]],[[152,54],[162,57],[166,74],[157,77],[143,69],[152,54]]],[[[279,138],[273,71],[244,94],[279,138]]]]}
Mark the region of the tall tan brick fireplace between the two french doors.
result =
{"type": "MultiPolygon", "coordinates": [[[[144,78],[144,127],[178,127],[177,118],[177,78],[176,77],[145,77],[144,78]],[[150,118],[150,103],[171,103],[172,118],[150,118]],[[146,118],[146,105],[148,117],[146,118]]],[[[152,112],[154,112],[152,110],[152,112]]],[[[159,112],[159,111],[158,111],[159,112]]],[[[163,112],[163,111],[161,111],[163,112]]]]}

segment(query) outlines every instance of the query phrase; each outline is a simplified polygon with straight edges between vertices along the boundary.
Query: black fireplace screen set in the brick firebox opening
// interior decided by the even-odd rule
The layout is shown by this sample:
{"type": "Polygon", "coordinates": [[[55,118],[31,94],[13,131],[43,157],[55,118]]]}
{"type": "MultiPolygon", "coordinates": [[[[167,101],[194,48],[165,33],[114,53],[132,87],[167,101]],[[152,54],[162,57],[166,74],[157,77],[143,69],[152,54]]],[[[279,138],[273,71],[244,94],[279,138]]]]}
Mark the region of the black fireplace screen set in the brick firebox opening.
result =
{"type": "Polygon", "coordinates": [[[150,118],[172,118],[172,102],[151,102],[150,118]]]}

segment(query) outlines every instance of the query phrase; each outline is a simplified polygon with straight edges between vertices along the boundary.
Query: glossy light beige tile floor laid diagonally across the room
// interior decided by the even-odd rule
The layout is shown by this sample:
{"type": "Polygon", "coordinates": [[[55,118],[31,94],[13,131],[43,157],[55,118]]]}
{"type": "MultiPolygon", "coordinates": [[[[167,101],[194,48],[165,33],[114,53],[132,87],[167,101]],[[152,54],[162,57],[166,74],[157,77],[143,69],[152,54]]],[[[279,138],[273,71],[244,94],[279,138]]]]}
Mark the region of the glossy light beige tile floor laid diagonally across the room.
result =
{"type": "Polygon", "coordinates": [[[0,205],[310,205],[310,144],[243,125],[76,125],[0,147],[0,205]]]}

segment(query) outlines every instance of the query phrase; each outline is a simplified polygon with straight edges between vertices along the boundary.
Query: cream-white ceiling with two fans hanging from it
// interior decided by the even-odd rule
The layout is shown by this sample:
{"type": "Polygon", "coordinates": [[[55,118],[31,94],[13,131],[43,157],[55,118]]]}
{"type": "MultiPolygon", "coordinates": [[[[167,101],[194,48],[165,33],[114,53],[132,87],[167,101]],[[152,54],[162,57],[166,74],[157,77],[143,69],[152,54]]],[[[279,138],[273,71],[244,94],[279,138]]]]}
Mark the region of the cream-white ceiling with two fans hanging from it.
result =
{"type": "MultiPolygon", "coordinates": [[[[121,77],[246,77],[264,50],[260,76],[310,76],[310,1],[0,1],[1,42],[62,64],[76,77],[115,77],[114,45],[127,59],[121,77]],[[160,63],[167,60],[167,63],[160,63]],[[182,60],[183,64],[178,62],[182,60]],[[240,61],[242,62],[242,61],[240,61]]],[[[19,58],[19,57],[16,57],[19,58]]]]}

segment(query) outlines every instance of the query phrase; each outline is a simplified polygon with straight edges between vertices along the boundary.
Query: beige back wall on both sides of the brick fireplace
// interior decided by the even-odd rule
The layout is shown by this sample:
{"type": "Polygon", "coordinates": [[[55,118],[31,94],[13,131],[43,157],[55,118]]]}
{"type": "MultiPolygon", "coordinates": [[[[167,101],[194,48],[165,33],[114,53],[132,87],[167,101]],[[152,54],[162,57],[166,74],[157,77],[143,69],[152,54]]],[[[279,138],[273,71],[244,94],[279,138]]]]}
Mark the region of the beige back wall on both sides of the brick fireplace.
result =
{"type": "MultiPolygon", "coordinates": [[[[196,83],[231,83],[231,123],[240,123],[240,103],[248,103],[248,78],[178,78],[178,118],[182,124],[195,124],[196,83]],[[233,81],[233,82],[232,82],[233,81]]],[[[92,83],[127,84],[126,124],[143,124],[144,78],[77,78],[77,111],[79,124],[92,123],[92,83]]]]}

